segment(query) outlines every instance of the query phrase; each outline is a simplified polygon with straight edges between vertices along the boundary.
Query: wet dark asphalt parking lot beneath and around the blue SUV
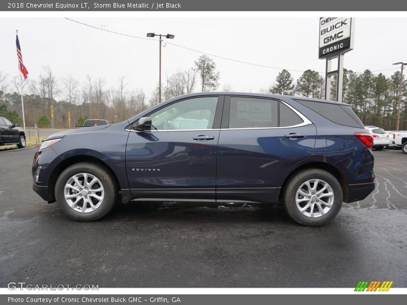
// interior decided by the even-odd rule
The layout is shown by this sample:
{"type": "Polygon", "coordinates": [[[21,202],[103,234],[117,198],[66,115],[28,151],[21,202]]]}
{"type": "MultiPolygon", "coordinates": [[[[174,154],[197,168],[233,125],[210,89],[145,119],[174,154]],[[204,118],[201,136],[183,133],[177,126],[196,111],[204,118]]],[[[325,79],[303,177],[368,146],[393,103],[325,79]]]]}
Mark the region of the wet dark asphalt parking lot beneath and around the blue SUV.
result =
{"type": "Polygon", "coordinates": [[[264,205],[119,205],[68,219],[32,190],[37,148],[0,152],[0,287],[407,286],[407,155],[373,151],[376,190],[318,228],[264,205]]]}

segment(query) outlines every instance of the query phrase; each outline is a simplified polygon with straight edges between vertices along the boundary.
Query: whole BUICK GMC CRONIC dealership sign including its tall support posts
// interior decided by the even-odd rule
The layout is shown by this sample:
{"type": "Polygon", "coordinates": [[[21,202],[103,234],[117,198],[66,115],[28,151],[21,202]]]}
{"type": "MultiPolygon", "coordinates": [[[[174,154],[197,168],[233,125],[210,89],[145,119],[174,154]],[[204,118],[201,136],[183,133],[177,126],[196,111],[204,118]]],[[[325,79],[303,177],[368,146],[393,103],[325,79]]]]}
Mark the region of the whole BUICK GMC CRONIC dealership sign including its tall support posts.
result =
{"type": "Polygon", "coordinates": [[[353,50],[355,18],[319,18],[318,58],[326,59],[325,99],[331,97],[331,78],[336,77],[335,100],[342,101],[343,54],[353,50]],[[334,64],[333,64],[334,63],[334,64]]]}

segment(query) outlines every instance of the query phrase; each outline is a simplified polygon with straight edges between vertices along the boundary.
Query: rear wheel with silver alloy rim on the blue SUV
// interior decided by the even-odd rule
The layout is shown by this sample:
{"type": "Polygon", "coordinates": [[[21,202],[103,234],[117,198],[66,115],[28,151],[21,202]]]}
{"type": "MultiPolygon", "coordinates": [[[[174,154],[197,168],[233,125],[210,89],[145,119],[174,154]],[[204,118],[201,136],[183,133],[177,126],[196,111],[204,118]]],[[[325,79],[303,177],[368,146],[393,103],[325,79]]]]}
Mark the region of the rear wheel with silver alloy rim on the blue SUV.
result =
{"type": "Polygon", "coordinates": [[[301,225],[310,227],[322,226],[334,219],[342,206],[342,201],[343,193],[339,181],[331,173],[316,168],[302,170],[289,178],[282,193],[282,203],[289,217],[301,225]],[[312,190],[307,187],[307,181],[311,189],[315,187],[315,183],[317,184],[315,194],[312,194],[312,190]],[[328,185],[327,189],[317,195],[326,185],[328,185]],[[310,196],[301,195],[300,190],[310,196]],[[329,195],[330,193],[333,196],[329,195]],[[316,196],[326,202],[319,201],[320,198],[316,196]],[[307,204],[309,204],[308,208],[306,208],[307,204]],[[311,207],[313,207],[312,212],[311,207]],[[300,211],[300,208],[306,209],[300,211]]]}

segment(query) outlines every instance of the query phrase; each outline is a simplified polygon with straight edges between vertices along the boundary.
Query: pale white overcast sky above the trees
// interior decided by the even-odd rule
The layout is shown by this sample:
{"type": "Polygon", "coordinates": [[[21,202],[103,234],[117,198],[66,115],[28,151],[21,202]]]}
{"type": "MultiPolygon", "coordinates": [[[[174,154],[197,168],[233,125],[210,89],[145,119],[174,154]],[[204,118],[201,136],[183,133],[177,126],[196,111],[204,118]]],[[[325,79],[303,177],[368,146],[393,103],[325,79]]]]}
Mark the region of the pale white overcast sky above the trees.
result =
{"type": "MultiPolygon", "coordinates": [[[[304,12],[306,14],[306,12],[304,12]]],[[[202,52],[285,69],[325,71],[318,59],[318,18],[72,18],[110,31],[146,37],[148,32],[173,34],[171,42],[202,52]]],[[[392,69],[407,61],[407,18],[357,18],[355,49],[345,54],[353,71],[392,69]]],[[[119,36],[64,18],[0,18],[0,71],[18,75],[15,30],[19,31],[29,78],[44,65],[56,76],[104,77],[106,88],[125,76],[127,89],[148,96],[158,83],[158,42],[119,36]]],[[[162,49],[162,76],[193,67],[200,54],[167,44],[162,49]]],[[[258,91],[280,70],[215,58],[220,87],[258,91]]],[[[301,72],[290,71],[295,79],[301,72]]],[[[395,70],[383,71],[387,76],[395,70]]],[[[376,74],[379,72],[376,72],[376,74]]],[[[196,86],[198,89],[198,86],[196,86]]]]}

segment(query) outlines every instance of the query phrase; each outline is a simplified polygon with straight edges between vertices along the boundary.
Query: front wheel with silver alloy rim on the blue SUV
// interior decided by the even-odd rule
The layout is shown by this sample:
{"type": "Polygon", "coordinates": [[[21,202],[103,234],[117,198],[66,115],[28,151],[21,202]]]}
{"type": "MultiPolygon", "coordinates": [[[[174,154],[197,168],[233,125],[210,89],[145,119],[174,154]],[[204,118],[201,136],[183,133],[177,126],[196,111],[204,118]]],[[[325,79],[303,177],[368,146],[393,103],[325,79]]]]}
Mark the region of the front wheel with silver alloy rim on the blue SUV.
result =
{"type": "Polygon", "coordinates": [[[90,162],[69,166],[61,173],[55,184],[57,204],[65,215],[77,221],[95,221],[106,216],[114,207],[118,194],[118,186],[115,185],[110,170],[90,162]],[[85,189],[85,177],[88,189],[85,189]],[[87,201],[85,207],[84,200],[87,201]]]}

